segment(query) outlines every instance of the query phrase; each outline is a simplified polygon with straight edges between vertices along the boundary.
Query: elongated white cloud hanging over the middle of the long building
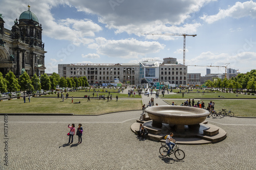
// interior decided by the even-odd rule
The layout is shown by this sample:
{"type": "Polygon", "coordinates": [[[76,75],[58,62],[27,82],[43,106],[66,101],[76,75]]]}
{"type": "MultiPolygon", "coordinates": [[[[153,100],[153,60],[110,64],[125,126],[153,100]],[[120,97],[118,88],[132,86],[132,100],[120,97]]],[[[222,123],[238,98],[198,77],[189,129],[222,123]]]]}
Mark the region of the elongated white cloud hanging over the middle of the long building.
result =
{"type": "Polygon", "coordinates": [[[136,58],[149,53],[158,53],[165,45],[153,41],[138,41],[134,38],[122,40],[106,40],[96,38],[96,43],[89,44],[89,48],[97,50],[98,54],[109,57],[130,57],[136,58]]]}

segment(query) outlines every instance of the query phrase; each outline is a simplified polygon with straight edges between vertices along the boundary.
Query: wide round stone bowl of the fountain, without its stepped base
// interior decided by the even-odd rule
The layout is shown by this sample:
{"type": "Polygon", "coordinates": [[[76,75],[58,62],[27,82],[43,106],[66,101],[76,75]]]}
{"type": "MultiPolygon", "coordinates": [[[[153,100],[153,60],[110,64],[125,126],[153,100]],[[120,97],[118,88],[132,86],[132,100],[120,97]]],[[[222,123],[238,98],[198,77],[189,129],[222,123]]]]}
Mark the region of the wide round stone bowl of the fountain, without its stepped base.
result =
{"type": "Polygon", "coordinates": [[[210,113],[205,109],[188,106],[153,106],[145,109],[154,124],[198,125],[210,113]]]}

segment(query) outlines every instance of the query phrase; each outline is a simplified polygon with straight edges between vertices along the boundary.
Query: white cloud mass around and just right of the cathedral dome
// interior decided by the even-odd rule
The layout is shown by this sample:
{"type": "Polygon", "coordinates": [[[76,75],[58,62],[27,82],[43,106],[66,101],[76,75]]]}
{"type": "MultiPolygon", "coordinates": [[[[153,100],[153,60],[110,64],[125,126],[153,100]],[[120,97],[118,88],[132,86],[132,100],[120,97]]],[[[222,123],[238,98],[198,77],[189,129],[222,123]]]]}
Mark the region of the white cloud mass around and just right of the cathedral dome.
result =
{"type": "MultiPolygon", "coordinates": [[[[5,28],[8,29],[13,26],[13,20],[15,18],[19,18],[22,12],[28,10],[27,2],[3,0],[1,4],[5,4],[4,6],[0,6],[0,11],[3,13],[3,16],[6,16],[4,17],[6,22],[5,28]]],[[[37,16],[39,23],[42,25],[42,34],[48,37],[58,40],[69,40],[78,46],[80,44],[92,43],[94,40],[88,37],[94,37],[95,32],[102,30],[99,25],[90,19],[54,18],[51,11],[52,8],[70,6],[68,1],[33,1],[30,5],[30,11],[37,16]]]]}

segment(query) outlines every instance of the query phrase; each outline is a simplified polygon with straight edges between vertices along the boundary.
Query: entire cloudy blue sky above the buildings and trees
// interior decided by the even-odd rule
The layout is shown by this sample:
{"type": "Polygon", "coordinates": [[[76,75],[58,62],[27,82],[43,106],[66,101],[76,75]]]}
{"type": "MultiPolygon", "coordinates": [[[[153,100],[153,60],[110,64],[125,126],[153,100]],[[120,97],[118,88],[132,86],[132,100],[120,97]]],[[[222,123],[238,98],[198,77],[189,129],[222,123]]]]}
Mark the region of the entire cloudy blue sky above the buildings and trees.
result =
{"type": "Polygon", "coordinates": [[[46,73],[58,64],[177,58],[188,73],[246,73],[256,63],[256,2],[225,0],[0,0],[5,28],[28,10],[42,25],[46,73]],[[209,67],[209,66],[212,67],[209,67]],[[208,67],[207,67],[208,66],[208,67]]]}

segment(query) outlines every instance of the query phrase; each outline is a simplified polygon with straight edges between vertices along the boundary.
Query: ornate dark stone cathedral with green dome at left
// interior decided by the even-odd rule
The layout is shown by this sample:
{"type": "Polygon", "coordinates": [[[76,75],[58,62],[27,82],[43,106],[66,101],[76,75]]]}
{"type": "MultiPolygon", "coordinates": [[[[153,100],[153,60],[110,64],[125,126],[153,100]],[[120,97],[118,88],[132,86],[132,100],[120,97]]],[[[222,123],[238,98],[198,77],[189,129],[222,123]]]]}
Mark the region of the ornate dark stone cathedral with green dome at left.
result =
{"type": "Polygon", "coordinates": [[[5,28],[3,14],[0,14],[0,71],[5,76],[9,70],[16,77],[24,71],[29,76],[45,73],[45,44],[42,43],[42,27],[38,18],[30,11],[20,14],[14,20],[11,30],[5,28]]]}

